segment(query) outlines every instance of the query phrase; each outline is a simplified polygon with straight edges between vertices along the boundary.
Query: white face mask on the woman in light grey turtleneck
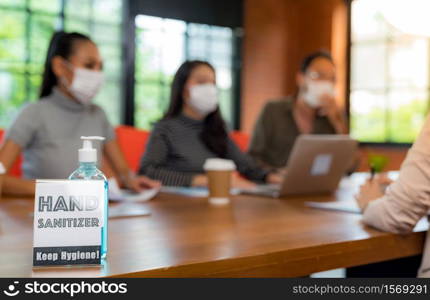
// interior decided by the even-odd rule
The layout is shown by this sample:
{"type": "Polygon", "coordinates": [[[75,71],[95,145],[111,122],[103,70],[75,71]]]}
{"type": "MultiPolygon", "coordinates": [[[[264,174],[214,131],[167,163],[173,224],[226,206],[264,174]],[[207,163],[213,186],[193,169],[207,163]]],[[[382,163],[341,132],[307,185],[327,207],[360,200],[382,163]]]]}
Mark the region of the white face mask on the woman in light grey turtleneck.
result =
{"type": "Polygon", "coordinates": [[[72,84],[66,84],[69,92],[82,104],[90,104],[103,84],[103,73],[76,67],[73,73],[72,84]]]}

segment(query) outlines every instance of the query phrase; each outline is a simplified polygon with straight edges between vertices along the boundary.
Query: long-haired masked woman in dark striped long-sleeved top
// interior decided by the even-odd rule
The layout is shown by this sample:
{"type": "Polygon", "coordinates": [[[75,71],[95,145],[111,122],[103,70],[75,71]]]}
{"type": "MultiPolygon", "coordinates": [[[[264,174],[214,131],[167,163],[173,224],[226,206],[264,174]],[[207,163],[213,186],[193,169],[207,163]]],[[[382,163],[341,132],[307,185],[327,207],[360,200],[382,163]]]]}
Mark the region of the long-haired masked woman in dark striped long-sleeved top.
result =
{"type": "MultiPolygon", "coordinates": [[[[154,126],[140,174],[164,185],[205,186],[203,164],[214,157],[233,160],[251,181],[280,182],[278,175],[257,167],[229,138],[218,107],[214,68],[207,62],[187,61],[175,74],[170,107],[154,126]]],[[[252,185],[233,178],[233,186],[252,185]]]]}

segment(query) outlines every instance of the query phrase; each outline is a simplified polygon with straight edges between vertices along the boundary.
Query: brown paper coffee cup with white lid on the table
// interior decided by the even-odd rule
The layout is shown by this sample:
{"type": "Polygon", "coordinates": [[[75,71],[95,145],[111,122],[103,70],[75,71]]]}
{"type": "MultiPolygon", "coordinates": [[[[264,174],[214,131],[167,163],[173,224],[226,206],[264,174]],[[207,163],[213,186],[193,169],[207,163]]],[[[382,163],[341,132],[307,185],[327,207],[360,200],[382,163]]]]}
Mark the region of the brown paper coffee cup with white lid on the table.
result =
{"type": "Polygon", "coordinates": [[[232,160],[209,158],[203,169],[208,177],[209,202],[212,204],[227,204],[230,198],[231,175],[236,170],[232,160]]]}

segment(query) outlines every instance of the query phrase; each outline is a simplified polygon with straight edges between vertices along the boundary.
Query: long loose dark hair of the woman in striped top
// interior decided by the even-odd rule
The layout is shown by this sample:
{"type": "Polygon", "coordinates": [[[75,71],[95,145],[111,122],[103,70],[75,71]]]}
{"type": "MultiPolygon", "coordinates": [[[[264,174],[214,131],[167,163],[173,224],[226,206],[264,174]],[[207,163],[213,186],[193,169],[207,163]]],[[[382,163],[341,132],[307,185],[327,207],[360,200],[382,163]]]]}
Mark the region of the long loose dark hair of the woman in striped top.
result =
{"type": "MultiPolygon", "coordinates": [[[[200,60],[186,61],[179,67],[178,71],[176,71],[170,93],[170,105],[163,119],[176,117],[182,112],[184,105],[182,95],[185,84],[191,72],[201,65],[208,66],[215,72],[211,64],[200,60]]],[[[212,152],[221,158],[225,158],[228,134],[219,108],[208,114],[204,119],[203,131],[200,134],[200,139],[212,152]]]]}

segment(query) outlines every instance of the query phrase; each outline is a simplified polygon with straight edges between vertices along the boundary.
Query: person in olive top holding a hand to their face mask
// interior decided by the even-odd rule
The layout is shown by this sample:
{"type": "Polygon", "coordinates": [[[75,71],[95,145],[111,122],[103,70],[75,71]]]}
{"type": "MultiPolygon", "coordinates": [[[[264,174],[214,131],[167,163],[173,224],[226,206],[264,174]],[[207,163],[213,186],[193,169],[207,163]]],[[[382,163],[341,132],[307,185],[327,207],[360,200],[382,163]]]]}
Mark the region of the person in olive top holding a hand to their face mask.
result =
{"type": "Polygon", "coordinates": [[[285,167],[300,134],[347,132],[335,101],[336,71],[326,52],[307,56],[297,74],[298,93],[268,102],[254,128],[249,154],[263,167],[285,167]]]}

